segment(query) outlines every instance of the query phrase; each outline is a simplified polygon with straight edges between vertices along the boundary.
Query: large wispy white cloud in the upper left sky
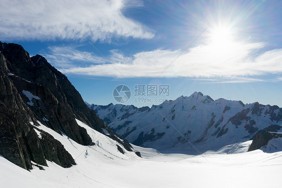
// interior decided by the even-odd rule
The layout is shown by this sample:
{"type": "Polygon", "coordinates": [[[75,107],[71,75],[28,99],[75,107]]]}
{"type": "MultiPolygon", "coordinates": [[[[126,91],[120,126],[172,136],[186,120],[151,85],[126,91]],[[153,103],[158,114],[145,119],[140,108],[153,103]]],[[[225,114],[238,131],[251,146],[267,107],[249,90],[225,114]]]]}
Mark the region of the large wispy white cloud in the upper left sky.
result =
{"type": "Polygon", "coordinates": [[[138,1],[16,1],[0,3],[0,38],[111,40],[112,37],[149,39],[153,32],[126,18],[121,10],[142,6],[138,1]],[[82,36],[83,35],[83,36],[82,36]]]}

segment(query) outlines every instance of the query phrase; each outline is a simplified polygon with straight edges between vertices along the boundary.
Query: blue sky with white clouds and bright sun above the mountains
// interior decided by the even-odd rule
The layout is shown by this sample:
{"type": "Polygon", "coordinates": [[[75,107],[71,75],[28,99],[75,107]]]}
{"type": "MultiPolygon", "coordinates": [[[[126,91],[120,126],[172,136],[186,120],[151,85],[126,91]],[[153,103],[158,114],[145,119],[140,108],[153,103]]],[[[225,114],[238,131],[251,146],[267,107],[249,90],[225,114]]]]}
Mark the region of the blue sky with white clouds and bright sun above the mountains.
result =
{"type": "Polygon", "coordinates": [[[138,107],[194,91],[282,107],[281,8],[259,0],[3,0],[0,40],[46,57],[88,103],[116,104],[113,89],[125,84],[123,104],[138,107]],[[134,96],[136,84],[170,85],[169,96],[134,96]]]}

